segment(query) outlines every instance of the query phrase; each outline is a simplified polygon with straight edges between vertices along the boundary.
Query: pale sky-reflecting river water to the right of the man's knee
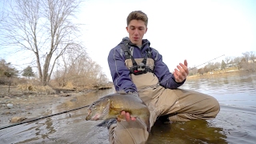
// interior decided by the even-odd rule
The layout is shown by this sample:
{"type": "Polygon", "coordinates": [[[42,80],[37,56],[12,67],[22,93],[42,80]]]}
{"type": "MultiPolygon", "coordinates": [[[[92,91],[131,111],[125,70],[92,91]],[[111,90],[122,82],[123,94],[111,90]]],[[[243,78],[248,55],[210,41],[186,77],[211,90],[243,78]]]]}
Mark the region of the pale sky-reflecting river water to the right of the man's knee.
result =
{"type": "Polygon", "coordinates": [[[217,118],[208,122],[214,127],[222,128],[222,134],[226,136],[226,138],[223,137],[225,142],[254,143],[256,141],[255,73],[200,78],[200,82],[198,79],[190,79],[182,88],[197,90],[218,99],[221,111],[217,118]],[[196,87],[194,85],[200,85],[200,89],[194,89],[196,87]]]}

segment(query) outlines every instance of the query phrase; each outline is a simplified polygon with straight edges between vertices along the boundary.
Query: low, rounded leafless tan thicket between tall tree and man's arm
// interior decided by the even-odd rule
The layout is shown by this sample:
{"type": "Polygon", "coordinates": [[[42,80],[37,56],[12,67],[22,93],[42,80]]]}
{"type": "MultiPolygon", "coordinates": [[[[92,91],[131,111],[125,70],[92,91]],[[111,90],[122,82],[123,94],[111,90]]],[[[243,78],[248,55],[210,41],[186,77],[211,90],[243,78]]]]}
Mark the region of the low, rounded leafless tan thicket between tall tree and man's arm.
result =
{"type": "Polygon", "coordinates": [[[62,65],[54,74],[58,86],[85,88],[86,86],[101,86],[108,82],[102,67],[87,56],[85,52],[62,55],[62,65]],[[65,57],[66,56],[66,57],[65,57]]]}

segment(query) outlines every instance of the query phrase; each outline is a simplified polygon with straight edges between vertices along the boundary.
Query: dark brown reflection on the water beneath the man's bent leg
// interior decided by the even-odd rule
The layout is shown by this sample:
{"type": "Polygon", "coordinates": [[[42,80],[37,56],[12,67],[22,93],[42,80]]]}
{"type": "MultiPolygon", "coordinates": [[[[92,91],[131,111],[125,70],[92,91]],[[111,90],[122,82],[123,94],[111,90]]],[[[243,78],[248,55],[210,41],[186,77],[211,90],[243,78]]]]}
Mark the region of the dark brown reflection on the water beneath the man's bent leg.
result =
{"type": "Polygon", "coordinates": [[[196,120],[190,122],[157,121],[152,127],[148,143],[227,143],[222,128],[210,122],[196,120]]]}

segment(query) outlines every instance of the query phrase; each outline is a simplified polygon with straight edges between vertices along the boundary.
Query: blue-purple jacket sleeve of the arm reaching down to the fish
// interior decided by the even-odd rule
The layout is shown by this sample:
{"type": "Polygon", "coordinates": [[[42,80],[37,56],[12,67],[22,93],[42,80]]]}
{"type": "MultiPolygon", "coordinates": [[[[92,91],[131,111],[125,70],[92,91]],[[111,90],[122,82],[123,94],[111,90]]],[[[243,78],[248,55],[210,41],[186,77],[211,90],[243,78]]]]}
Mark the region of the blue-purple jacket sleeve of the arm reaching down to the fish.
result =
{"type": "Polygon", "coordinates": [[[121,48],[114,48],[110,50],[110,54],[107,59],[114,88],[117,91],[124,90],[126,93],[137,92],[134,82],[131,81],[130,70],[126,67],[125,58],[122,57],[121,50],[121,48]]]}

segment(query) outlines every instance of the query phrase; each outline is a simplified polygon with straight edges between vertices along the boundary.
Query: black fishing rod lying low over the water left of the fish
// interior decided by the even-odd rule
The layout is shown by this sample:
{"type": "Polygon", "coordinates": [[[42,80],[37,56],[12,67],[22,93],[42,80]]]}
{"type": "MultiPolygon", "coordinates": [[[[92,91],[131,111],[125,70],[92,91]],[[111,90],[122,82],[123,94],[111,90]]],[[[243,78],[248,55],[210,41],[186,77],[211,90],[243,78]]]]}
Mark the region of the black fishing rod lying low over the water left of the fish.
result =
{"type": "MultiPolygon", "coordinates": [[[[78,108],[73,109],[73,110],[62,111],[61,113],[57,113],[57,114],[46,115],[46,116],[44,116],[44,117],[42,117],[42,118],[49,118],[49,117],[52,117],[52,116],[54,116],[54,115],[68,113],[68,112],[70,112],[70,111],[79,110],[79,109],[82,109],[82,108],[86,108],[86,107],[88,107],[88,106],[90,106],[90,105],[78,107],[78,108]]],[[[38,121],[39,119],[42,119],[42,118],[34,118],[34,119],[29,120],[29,121],[19,122],[19,123],[15,123],[15,124],[9,125],[9,126],[3,126],[3,127],[0,127],[0,130],[6,129],[6,128],[9,128],[9,127],[12,127],[12,126],[22,125],[23,123],[38,121]]]]}

